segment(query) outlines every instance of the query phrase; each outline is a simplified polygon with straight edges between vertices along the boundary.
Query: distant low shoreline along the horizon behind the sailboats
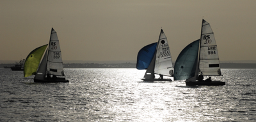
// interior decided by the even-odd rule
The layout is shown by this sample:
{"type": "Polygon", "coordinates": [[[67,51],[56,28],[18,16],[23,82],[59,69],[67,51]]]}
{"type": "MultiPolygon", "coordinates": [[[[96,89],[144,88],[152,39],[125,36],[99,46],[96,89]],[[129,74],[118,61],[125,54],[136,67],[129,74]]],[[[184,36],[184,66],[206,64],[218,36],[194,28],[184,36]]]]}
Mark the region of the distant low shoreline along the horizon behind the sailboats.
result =
{"type": "MultiPolygon", "coordinates": [[[[0,64],[0,68],[4,66],[11,67],[15,64],[0,64]]],[[[256,64],[250,63],[220,63],[221,69],[256,69],[256,64]]],[[[120,64],[97,64],[97,63],[68,63],[63,64],[64,68],[136,68],[136,63],[120,63],[120,64]]]]}

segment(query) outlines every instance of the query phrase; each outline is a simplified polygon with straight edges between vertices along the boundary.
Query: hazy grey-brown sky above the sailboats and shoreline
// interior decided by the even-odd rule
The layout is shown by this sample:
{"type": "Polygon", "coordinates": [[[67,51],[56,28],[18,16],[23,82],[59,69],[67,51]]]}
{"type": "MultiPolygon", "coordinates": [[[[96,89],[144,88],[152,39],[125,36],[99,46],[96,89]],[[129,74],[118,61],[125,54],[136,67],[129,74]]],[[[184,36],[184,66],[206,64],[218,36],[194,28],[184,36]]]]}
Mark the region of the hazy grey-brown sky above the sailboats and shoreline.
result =
{"type": "MultiPolygon", "coordinates": [[[[0,60],[20,60],[49,43],[53,27],[63,60],[136,60],[166,34],[173,60],[211,24],[220,61],[256,60],[256,1],[0,1],[0,60]]],[[[65,63],[65,62],[64,62],[65,63]]]]}

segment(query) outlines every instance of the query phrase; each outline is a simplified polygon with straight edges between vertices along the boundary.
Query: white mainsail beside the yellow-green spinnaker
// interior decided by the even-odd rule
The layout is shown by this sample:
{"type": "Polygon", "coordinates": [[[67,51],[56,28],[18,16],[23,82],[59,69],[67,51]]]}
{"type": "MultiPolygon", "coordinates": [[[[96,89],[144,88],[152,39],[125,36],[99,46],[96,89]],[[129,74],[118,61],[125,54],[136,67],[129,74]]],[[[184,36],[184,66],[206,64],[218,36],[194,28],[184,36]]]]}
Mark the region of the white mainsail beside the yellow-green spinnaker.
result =
{"type": "Polygon", "coordinates": [[[52,74],[55,76],[64,76],[60,43],[57,33],[54,29],[51,30],[51,37],[49,42],[49,51],[47,57],[47,74],[52,74]]]}

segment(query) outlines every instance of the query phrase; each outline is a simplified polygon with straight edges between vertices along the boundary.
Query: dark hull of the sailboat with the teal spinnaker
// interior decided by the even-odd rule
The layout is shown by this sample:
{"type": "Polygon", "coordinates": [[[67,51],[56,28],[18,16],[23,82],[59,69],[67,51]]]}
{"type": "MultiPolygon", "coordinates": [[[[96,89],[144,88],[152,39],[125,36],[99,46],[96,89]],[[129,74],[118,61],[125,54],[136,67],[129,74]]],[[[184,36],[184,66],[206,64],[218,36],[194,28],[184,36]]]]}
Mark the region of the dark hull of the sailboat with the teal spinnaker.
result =
{"type": "Polygon", "coordinates": [[[211,82],[200,82],[200,81],[185,81],[186,86],[223,86],[225,82],[211,81],[211,82]]]}

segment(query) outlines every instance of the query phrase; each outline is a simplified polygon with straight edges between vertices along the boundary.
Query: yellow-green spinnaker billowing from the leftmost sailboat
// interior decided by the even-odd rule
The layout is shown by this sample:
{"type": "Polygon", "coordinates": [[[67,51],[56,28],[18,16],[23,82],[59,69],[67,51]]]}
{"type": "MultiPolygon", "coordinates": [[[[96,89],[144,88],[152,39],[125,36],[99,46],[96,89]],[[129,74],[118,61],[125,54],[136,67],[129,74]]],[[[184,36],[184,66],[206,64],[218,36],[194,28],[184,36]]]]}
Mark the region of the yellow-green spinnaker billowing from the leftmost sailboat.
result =
{"type": "Polygon", "coordinates": [[[47,48],[48,44],[35,48],[35,50],[31,51],[24,63],[24,77],[31,76],[36,74],[38,69],[38,65],[40,64],[40,60],[44,55],[44,51],[47,48]]]}

